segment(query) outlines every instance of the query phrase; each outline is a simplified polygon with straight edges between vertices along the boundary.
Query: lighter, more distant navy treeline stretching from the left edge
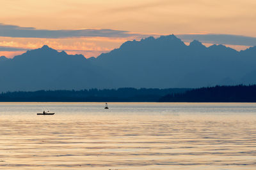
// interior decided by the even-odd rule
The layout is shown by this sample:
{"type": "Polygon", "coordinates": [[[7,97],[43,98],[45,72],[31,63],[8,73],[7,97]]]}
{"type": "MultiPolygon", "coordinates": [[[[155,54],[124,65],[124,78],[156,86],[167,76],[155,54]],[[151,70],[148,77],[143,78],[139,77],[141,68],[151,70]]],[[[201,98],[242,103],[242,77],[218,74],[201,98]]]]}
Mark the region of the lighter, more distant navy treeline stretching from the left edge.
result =
{"type": "Polygon", "coordinates": [[[4,92],[0,94],[0,102],[157,102],[167,94],[180,94],[187,90],[120,88],[4,92]]]}

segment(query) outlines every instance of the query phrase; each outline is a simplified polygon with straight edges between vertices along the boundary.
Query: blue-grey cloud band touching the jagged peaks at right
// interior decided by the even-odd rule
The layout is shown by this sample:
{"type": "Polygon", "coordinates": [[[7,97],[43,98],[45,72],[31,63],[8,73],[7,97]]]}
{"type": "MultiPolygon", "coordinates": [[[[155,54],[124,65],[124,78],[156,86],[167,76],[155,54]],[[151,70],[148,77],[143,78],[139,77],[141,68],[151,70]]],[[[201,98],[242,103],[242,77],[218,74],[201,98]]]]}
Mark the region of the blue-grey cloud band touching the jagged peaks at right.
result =
{"type": "Polygon", "coordinates": [[[256,46],[255,37],[232,34],[178,34],[177,37],[183,41],[193,41],[196,39],[202,43],[256,46]]]}

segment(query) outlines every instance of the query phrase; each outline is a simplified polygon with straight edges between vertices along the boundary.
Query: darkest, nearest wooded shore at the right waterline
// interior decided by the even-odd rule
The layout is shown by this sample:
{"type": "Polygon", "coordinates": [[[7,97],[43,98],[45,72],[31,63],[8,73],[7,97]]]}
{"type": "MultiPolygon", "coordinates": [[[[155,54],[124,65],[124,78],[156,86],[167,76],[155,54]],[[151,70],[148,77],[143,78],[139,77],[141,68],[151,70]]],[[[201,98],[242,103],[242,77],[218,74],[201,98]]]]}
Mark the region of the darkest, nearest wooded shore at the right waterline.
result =
{"type": "Polygon", "coordinates": [[[168,94],[159,102],[256,102],[256,85],[216,86],[168,94]]]}

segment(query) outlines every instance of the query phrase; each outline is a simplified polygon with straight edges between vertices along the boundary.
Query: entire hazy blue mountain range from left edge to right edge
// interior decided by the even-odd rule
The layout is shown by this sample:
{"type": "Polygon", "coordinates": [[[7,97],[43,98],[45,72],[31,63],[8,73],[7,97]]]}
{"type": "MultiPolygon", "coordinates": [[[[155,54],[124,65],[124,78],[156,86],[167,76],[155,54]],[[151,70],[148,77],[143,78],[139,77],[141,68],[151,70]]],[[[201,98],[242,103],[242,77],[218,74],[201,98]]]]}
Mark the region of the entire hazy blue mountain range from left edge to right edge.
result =
{"type": "Polygon", "coordinates": [[[0,91],[173,88],[256,83],[256,47],[237,52],[174,35],[127,41],[97,58],[43,46],[13,59],[0,57],[0,91]]]}

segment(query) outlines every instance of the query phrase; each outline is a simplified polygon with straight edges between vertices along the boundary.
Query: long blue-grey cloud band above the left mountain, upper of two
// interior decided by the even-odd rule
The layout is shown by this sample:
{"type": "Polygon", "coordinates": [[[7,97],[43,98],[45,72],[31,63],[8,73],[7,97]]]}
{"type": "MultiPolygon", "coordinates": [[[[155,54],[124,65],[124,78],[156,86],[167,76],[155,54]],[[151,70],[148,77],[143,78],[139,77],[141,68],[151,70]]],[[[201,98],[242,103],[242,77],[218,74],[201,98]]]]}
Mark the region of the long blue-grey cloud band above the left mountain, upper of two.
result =
{"type": "Polygon", "coordinates": [[[12,38],[72,38],[72,37],[108,37],[127,38],[140,36],[129,31],[113,29],[76,29],[76,30],[47,30],[34,27],[19,27],[17,25],[0,24],[0,36],[12,38]]]}

